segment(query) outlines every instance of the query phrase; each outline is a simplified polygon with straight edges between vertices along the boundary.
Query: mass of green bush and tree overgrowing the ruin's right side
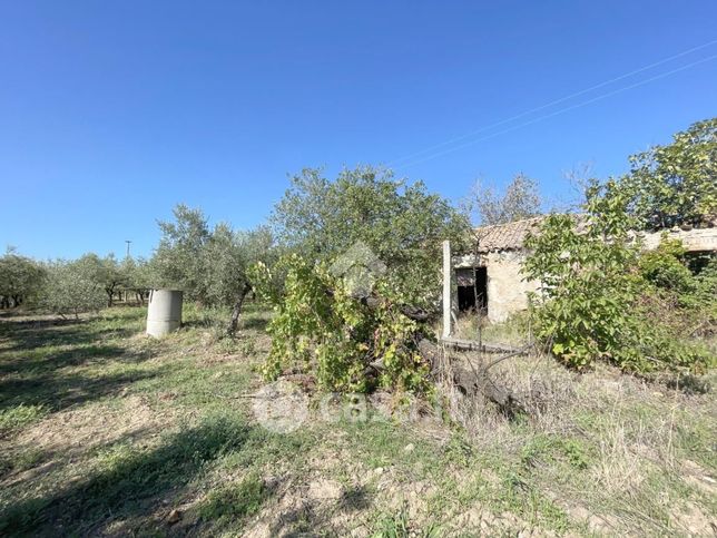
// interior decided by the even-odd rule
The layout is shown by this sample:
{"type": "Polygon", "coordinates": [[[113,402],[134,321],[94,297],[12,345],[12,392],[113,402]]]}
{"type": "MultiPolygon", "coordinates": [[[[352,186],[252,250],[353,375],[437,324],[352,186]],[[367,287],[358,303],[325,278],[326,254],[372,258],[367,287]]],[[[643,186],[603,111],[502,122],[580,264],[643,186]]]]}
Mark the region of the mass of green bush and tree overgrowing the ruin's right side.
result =
{"type": "Polygon", "coordinates": [[[713,218],[714,170],[705,163],[716,144],[715,121],[693,126],[672,146],[633,157],[641,165],[630,175],[595,182],[585,215],[550,215],[529,238],[526,275],[542,284],[537,334],[563,362],[583,369],[605,359],[637,372],[714,366],[714,353],[684,336],[714,327],[715,257],[695,275],[679,242],[642,252],[635,231],[713,218]]]}

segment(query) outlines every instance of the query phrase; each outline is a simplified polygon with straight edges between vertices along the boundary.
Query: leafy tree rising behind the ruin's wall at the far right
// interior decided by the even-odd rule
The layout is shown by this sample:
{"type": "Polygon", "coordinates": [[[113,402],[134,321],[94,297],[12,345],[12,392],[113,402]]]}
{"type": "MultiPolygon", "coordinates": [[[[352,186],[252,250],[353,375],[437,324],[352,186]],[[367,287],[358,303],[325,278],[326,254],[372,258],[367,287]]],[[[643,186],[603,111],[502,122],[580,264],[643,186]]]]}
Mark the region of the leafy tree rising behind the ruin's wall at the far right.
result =
{"type": "Polygon", "coordinates": [[[641,227],[717,224],[717,118],[631,156],[630,164],[620,188],[641,227]]]}

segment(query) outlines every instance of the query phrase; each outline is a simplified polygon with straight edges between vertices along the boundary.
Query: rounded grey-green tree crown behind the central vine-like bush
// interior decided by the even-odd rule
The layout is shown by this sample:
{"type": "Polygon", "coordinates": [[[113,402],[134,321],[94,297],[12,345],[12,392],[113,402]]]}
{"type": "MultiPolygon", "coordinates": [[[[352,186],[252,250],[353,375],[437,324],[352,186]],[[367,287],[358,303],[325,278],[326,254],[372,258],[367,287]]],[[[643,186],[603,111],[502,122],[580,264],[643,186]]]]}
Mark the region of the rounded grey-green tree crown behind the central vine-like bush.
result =
{"type": "Polygon", "coordinates": [[[441,242],[463,244],[468,219],[422,183],[361,166],[331,182],[305,169],[276,205],[277,238],[311,261],[333,263],[358,242],[387,267],[386,280],[407,303],[435,304],[441,242]]]}

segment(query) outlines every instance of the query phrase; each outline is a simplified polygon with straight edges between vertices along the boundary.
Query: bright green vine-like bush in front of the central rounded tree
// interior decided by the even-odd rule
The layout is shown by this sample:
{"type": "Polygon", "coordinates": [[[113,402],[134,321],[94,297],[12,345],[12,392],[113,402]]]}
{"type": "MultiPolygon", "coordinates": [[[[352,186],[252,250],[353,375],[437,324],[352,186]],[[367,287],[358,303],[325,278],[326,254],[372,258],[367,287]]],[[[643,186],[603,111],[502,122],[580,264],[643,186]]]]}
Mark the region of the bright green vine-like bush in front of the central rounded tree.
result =
{"type": "Polygon", "coordinates": [[[297,254],[283,258],[276,270],[286,275],[281,293],[266,265],[256,266],[253,275],[275,305],[266,378],[299,369],[315,374],[327,390],[428,389],[429,365],[418,350],[425,327],[401,311],[386,281],[379,281],[370,297],[356,297],[325,264],[297,254]]]}

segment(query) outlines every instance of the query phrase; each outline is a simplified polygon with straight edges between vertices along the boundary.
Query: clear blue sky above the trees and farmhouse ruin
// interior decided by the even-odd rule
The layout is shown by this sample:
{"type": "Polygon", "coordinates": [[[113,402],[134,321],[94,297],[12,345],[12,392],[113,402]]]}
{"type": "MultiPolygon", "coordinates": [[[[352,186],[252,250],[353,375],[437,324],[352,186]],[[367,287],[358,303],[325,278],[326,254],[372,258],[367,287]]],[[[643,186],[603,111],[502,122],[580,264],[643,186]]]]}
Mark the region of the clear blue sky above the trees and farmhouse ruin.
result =
{"type": "MultiPolygon", "coordinates": [[[[252,227],[288,173],[395,162],[714,41],[715,21],[714,0],[0,1],[0,246],[121,255],[132,239],[147,255],[179,202],[252,227]]],[[[564,197],[566,169],[622,173],[629,154],[717,115],[715,59],[619,91],[715,55],[396,173],[458,199],[479,176],[523,172],[564,197]]]]}

